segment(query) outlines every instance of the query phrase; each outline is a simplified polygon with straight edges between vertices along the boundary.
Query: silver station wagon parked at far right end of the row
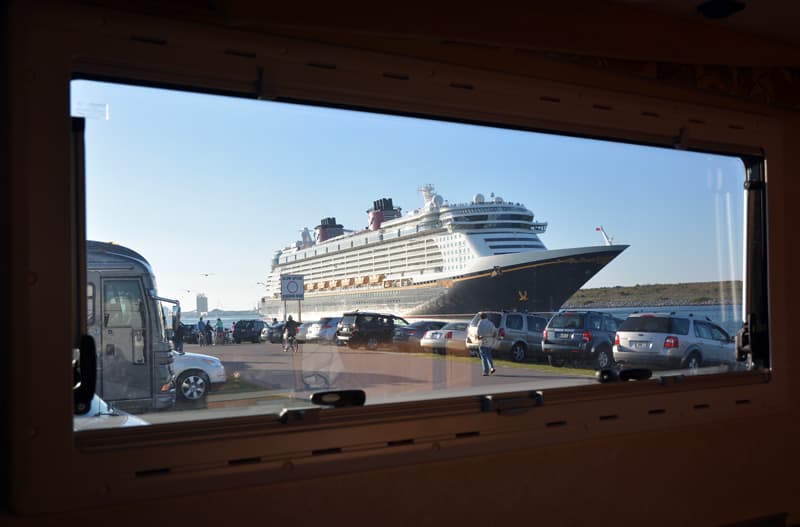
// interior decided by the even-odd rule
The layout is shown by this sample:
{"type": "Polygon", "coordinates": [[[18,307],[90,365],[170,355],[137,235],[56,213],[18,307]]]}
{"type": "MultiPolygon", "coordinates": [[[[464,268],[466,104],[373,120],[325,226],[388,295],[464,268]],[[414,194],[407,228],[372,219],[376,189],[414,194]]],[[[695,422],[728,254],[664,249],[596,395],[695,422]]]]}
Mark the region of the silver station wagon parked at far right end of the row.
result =
{"type": "Polygon", "coordinates": [[[614,360],[650,369],[735,365],[733,337],[710,321],[673,313],[634,313],[617,329],[614,360]]]}

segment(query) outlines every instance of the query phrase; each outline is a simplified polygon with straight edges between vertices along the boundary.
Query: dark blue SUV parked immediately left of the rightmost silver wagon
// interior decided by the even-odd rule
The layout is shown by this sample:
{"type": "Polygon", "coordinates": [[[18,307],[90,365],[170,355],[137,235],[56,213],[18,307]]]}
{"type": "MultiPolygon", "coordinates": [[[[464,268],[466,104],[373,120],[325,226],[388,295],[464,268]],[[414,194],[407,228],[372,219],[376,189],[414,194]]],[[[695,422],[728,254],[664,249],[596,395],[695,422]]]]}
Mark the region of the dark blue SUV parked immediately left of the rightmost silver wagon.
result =
{"type": "Polygon", "coordinates": [[[622,321],[600,311],[569,310],[553,315],[542,333],[542,352],[554,365],[588,361],[597,370],[614,363],[614,334],[622,321]]]}

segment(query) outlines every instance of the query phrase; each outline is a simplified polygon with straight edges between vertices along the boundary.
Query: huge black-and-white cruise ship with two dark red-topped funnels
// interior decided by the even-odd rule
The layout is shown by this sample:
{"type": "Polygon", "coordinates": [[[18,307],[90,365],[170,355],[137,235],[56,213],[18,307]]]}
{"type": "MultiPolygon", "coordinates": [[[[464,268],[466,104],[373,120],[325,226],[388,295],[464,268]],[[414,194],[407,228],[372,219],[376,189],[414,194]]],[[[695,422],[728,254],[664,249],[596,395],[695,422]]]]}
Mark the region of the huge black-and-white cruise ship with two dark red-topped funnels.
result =
{"type": "Polygon", "coordinates": [[[259,311],[281,318],[297,312],[281,300],[282,274],[303,277],[299,308],[306,320],[345,311],[379,311],[409,318],[465,317],[480,310],[558,310],[627,245],[550,250],[523,204],[476,194],[449,203],[432,185],[424,204],[403,215],[390,198],[367,211],[368,227],[348,231],[333,217],[313,234],[276,251],[259,311]]]}

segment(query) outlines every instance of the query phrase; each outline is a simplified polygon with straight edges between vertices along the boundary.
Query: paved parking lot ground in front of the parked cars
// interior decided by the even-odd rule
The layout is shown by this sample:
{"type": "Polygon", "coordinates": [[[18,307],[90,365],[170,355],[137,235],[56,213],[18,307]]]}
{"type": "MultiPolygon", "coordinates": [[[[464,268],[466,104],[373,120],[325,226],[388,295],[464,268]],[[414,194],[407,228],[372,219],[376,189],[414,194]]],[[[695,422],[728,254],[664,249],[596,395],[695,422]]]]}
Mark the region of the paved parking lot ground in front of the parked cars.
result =
{"type": "MultiPolygon", "coordinates": [[[[185,349],[200,351],[193,345],[185,349]]],[[[367,393],[367,404],[375,404],[596,382],[589,371],[560,373],[506,361],[497,361],[496,373],[484,377],[477,358],[351,350],[312,343],[304,344],[298,353],[284,352],[280,344],[272,343],[206,346],[202,351],[222,360],[229,383],[238,374],[240,382],[256,391],[300,399],[319,390],[362,389],[367,393]]],[[[209,405],[214,405],[217,395],[211,394],[209,405]]],[[[244,394],[242,398],[246,398],[244,394]]]]}

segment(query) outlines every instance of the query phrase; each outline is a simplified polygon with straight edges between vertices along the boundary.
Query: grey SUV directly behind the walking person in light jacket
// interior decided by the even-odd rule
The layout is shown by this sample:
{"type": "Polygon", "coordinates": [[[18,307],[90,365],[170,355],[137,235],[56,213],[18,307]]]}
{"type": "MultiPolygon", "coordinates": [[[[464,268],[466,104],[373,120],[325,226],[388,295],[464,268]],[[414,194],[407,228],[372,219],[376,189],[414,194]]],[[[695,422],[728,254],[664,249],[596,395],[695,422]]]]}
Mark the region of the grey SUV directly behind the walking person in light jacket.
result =
{"type": "MultiPolygon", "coordinates": [[[[486,318],[497,328],[492,353],[495,356],[508,355],[514,362],[522,362],[526,357],[541,357],[542,331],[547,319],[517,311],[484,311],[486,318]]],[[[467,326],[467,350],[470,355],[478,354],[477,326],[480,313],[476,313],[467,326]]]]}

